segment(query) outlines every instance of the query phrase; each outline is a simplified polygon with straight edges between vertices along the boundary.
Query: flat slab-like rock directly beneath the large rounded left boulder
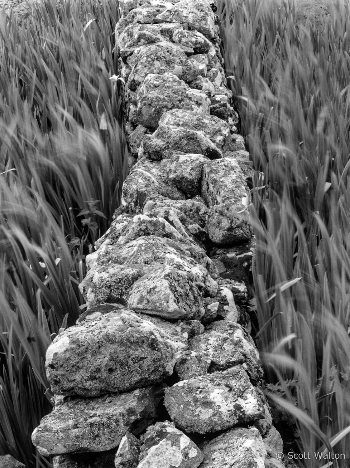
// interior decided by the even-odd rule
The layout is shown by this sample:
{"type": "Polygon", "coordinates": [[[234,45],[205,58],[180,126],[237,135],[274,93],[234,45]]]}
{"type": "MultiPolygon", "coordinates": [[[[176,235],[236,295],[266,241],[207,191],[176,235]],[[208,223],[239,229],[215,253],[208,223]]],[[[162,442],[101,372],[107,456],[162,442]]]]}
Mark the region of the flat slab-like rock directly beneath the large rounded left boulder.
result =
{"type": "Polygon", "coordinates": [[[32,434],[44,456],[101,452],[117,447],[126,431],[141,433],[155,417],[152,388],[98,398],[68,397],[32,434]]]}

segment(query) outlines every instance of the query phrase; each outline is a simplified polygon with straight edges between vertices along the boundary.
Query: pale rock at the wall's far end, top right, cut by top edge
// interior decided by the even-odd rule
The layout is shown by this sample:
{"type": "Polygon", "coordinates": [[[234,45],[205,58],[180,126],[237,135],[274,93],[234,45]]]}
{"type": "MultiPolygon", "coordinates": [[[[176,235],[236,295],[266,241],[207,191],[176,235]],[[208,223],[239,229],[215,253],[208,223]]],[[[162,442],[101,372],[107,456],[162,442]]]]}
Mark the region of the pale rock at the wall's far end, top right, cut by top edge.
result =
{"type": "Polygon", "coordinates": [[[208,39],[215,37],[214,14],[207,0],[181,0],[157,15],[155,22],[187,23],[188,29],[199,31],[208,39]]]}

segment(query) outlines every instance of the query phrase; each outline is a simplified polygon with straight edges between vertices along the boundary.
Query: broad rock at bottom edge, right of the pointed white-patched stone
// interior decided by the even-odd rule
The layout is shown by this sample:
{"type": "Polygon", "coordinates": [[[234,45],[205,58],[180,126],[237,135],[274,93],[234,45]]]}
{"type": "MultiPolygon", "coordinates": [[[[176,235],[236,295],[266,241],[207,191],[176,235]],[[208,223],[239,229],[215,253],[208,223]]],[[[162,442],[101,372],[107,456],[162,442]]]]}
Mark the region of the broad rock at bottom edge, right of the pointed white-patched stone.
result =
{"type": "Polygon", "coordinates": [[[265,468],[266,450],[257,429],[237,427],[200,444],[201,468],[265,468]]]}

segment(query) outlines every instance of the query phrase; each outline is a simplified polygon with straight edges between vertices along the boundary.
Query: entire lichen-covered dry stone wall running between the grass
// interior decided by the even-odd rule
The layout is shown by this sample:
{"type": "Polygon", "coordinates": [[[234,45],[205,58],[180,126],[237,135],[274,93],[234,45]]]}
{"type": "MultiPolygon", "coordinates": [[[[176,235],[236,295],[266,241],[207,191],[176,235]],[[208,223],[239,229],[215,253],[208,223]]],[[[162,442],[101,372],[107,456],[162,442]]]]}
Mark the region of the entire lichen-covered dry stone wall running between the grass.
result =
{"type": "Polygon", "coordinates": [[[50,345],[55,468],[281,467],[250,336],[251,165],[214,0],[120,0],[131,171],[50,345]]]}

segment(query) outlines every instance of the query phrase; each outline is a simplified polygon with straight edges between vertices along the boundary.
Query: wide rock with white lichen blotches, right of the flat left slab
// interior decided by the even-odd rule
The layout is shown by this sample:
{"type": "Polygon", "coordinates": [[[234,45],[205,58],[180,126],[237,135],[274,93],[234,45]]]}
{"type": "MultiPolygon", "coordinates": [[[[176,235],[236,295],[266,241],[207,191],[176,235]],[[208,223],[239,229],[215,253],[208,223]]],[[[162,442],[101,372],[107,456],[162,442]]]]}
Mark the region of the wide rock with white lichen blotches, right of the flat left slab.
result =
{"type": "Polygon", "coordinates": [[[177,427],[200,434],[264,417],[257,392],[240,366],[182,380],[165,390],[164,404],[177,427]]]}

